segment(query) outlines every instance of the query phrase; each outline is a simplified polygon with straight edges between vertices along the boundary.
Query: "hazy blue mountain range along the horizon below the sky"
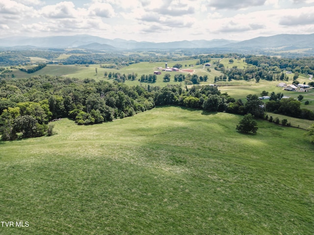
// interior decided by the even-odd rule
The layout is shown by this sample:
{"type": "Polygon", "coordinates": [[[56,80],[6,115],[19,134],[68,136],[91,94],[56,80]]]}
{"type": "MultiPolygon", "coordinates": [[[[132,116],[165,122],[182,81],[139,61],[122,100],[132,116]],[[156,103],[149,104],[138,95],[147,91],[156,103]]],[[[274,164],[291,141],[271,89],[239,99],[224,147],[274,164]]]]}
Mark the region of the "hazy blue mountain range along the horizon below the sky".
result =
{"type": "Polygon", "coordinates": [[[313,34],[278,34],[245,41],[225,39],[177,41],[166,43],[105,39],[91,35],[52,37],[9,37],[0,39],[0,47],[16,48],[86,48],[92,50],[221,48],[224,50],[314,48],[313,34]]]}

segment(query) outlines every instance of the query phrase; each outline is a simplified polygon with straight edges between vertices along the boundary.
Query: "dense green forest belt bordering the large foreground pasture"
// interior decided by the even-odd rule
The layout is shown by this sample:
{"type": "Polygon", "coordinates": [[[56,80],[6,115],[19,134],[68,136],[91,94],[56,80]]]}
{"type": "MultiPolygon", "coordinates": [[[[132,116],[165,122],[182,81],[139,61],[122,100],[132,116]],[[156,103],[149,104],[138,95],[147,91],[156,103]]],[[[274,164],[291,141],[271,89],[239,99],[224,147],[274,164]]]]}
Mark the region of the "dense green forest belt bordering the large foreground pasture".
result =
{"type": "Polygon", "coordinates": [[[179,105],[209,112],[252,114],[265,118],[264,111],[275,111],[297,118],[314,119],[314,112],[301,109],[300,101],[273,95],[266,105],[257,95],[247,101],[221,94],[215,86],[180,85],[163,88],[127,86],[122,82],[96,82],[57,76],[33,76],[29,79],[0,80],[0,134],[2,140],[52,135],[51,120],[72,118],[78,124],[96,124],[125,118],[155,106],[179,105]],[[266,108],[266,109],[265,109],[266,108]]]}

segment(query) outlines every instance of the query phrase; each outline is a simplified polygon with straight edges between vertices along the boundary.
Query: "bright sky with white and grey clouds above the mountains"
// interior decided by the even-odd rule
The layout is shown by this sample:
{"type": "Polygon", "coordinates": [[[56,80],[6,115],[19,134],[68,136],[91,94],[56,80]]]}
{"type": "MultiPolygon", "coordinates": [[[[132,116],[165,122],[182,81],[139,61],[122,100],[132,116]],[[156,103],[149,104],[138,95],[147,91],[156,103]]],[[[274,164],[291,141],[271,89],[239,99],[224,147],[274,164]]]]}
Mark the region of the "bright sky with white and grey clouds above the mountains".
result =
{"type": "Polygon", "coordinates": [[[1,0],[0,38],[88,34],[148,42],[314,33],[314,0],[1,0]]]}

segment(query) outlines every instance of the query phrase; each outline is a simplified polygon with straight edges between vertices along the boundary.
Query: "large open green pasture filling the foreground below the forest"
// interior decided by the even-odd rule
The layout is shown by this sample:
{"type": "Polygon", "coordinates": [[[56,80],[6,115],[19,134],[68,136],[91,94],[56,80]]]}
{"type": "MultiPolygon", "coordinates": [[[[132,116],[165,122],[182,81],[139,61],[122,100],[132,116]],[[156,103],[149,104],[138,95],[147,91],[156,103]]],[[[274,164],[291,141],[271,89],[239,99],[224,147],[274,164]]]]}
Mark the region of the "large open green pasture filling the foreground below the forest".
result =
{"type": "Polygon", "coordinates": [[[314,234],[306,131],[240,118],[169,106],[0,142],[1,221],[29,223],[0,234],[314,234]]]}

